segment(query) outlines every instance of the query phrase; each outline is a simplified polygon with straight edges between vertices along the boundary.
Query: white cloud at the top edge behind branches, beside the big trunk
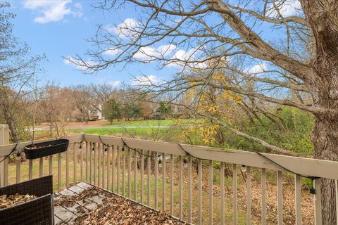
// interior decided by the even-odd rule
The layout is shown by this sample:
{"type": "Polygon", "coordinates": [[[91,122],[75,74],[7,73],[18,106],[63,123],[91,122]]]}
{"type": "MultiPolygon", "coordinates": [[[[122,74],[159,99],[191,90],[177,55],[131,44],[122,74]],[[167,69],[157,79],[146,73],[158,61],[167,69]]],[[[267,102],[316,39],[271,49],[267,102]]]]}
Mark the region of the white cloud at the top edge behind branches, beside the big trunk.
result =
{"type": "MultiPolygon", "coordinates": [[[[301,3],[298,0],[280,0],[276,1],[275,5],[277,6],[283,17],[296,15],[297,12],[301,10],[301,3]]],[[[268,14],[270,14],[271,17],[279,16],[273,4],[270,4],[269,8],[270,10],[268,11],[268,14]]]]}

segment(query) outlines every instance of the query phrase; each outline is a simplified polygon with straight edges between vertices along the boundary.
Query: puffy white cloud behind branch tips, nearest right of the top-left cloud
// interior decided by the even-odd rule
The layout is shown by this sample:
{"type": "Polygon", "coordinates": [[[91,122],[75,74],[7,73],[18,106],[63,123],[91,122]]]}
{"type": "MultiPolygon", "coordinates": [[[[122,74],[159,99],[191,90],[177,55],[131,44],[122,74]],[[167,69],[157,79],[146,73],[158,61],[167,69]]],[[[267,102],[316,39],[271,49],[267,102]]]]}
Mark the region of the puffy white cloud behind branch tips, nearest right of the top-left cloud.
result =
{"type": "Polygon", "coordinates": [[[133,18],[127,18],[123,23],[120,23],[119,25],[107,25],[105,29],[108,32],[118,34],[118,37],[120,38],[134,39],[139,30],[139,25],[140,24],[133,18]]]}

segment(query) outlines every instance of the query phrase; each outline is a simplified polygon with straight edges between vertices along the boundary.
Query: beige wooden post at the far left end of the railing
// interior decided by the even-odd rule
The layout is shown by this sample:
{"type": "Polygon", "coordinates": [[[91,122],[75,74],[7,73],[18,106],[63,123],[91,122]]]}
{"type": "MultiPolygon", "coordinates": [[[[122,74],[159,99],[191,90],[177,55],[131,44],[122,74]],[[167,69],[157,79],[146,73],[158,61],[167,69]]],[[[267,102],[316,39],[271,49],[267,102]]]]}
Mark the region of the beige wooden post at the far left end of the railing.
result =
{"type": "MultiPolygon", "coordinates": [[[[0,124],[0,145],[9,144],[9,129],[7,124],[0,124]]],[[[6,158],[6,155],[0,153],[0,161],[6,158]]],[[[0,162],[0,187],[8,185],[8,158],[0,162]]]]}

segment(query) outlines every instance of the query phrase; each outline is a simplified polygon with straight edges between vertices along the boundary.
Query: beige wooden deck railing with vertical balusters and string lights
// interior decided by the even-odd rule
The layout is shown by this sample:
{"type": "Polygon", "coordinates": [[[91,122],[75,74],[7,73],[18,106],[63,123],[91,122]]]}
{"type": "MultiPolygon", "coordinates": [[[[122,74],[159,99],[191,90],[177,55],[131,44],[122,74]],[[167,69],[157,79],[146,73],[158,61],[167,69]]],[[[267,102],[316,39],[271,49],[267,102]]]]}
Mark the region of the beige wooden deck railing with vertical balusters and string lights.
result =
{"type": "MultiPolygon", "coordinates": [[[[0,128],[0,160],[9,154],[16,156],[31,143],[8,144],[6,126],[0,128]],[[13,151],[15,146],[17,150],[13,151]]],[[[302,224],[308,219],[302,217],[302,181],[289,171],[336,180],[338,196],[338,162],[273,154],[263,154],[264,158],[241,150],[91,134],[65,139],[70,141],[65,153],[28,163],[15,157],[15,162],[8,164],[6,158],[0,164],[0,186],[53,174],[56,191],[71,182],[87,181],[194,224],[251,224],[257,217],[260,224],[268,224],[269,213],[275,213],[277,224],[283,224],[283,178],[294,179],[294,223],[302,224]],[[226,174],[229,171],[231,174],[226,174]],[[268,189],[270,183],[275,183],[277,191],[268,189]],[[261,189],[258,212],[257,204],[253,208],[252,194],[257,185],[261,189]],[[268,211],[271,205],[267,196],[271,193],[277,195],[277,212],[268,211]]],[[[311,223],[321,224],[320,179],[315,179],[314,186],[315,195],[308,197],[313,200],[311,223]]]]}

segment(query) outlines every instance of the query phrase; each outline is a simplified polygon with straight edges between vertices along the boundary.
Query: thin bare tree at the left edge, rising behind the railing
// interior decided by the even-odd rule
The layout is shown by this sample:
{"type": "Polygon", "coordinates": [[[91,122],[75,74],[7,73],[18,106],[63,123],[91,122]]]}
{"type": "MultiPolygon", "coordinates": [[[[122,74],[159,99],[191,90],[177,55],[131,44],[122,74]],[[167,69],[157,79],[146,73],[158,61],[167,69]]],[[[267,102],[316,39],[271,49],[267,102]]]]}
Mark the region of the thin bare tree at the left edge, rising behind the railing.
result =
{"type": "Polygon", "coordinates": [[[16,117],[23,110],[23,98],[30,91],[30,82],[41,72],[44,56],[30,56],[30,47],[13,36],[9,20],[15,15],[5,11],[10,4],[0,2],[0,110],[14,142],[20,142],[16,117]]]}

